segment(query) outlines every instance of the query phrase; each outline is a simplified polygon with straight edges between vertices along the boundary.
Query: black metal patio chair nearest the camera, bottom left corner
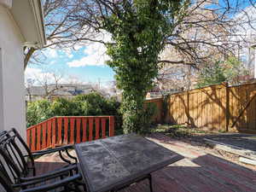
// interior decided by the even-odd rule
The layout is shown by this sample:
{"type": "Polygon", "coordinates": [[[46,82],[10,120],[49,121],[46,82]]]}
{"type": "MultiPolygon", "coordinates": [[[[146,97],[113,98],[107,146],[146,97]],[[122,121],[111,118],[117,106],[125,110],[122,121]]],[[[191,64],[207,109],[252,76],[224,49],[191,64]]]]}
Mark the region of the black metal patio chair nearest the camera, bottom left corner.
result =
{"type": "MultiPolygon", "coordinates": [[[[2,138],[1,138],[2,139],[2,138]]],[[[3,140],[1,141],[3,143],[3,140]]],[[[53,189],[61,192],[85,191],[80,174],[75,173],[77,165],[72,165],[44,177],[31,177],[20,182],[21,172],[15,160],[0,146],[0,189],[6,192],[47,192],[53,189]],[[71,172],[74,172],[71,175],[71,172]],[[83,190],[84,189],[84,190],[83,190]]]]}

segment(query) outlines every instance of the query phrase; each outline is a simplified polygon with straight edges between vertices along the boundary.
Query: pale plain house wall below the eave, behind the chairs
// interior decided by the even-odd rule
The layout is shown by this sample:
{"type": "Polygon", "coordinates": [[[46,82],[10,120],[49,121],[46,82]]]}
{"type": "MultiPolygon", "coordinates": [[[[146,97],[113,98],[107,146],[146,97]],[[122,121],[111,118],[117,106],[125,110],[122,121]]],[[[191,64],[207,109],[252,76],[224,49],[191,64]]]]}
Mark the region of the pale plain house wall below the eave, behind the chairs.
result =
{"type": "Polygon", "coordinates": [[[15,127],[26,136],[23,50],[19,28],[0,4],[0,131],[15,127]]]}

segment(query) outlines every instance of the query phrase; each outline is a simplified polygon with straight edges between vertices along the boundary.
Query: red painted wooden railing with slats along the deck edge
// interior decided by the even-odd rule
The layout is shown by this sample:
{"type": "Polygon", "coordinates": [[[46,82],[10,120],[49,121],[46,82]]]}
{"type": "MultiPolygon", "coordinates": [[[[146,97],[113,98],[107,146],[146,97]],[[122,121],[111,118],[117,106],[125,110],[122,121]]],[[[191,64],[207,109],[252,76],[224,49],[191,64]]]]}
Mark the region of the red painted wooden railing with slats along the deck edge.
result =
{"type": "Polygon", "coordinates": [[[58,116],[26,129],[32,151],[81,143],[114,135],[113,116],[58,116]]]}

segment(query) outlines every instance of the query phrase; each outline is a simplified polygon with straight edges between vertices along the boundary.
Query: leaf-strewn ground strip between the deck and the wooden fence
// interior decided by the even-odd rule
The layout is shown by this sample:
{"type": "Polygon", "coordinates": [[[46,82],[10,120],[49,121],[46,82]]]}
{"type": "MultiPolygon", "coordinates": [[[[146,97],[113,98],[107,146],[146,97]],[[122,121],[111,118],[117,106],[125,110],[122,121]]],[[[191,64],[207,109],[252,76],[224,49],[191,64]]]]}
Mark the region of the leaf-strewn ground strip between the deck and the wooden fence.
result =
{"type": "Polygon", "coordinates": [[[157,125],[154,133],[161,133],[167,137],[175,138],[184,143],[189,143],[201,150],[206,150],[207,153],[217,155],[218,157],[230,160],[241,166],[246,166],[249,169],[256,171],[256,166],[241,163],[239,161],[239,155],[228,153],[226,150],[219,148],[212,148],[212,145],[205,140],[211,139],[216,142],[232,145],[235,148],[245,148],[252,150],[255,156],[256,153],[256,137],[249,134],[237,134],[237,133],[223,133],[219,131],[209,131],[197,128],[186,127],[184,125],[157,125]]]}

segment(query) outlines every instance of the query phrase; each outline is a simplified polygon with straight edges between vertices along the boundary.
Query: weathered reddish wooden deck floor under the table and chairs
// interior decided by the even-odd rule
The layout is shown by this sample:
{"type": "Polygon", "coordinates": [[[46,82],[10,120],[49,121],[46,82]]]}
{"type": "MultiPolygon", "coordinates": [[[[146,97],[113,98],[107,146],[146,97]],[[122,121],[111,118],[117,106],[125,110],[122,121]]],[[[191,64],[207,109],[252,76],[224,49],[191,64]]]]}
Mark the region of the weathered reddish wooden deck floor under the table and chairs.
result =
{"type": "MultiPolygon", "coordinates": [[[[255,171],[161,134],[148,138],[185,157],[153,173],[154,192],[256,192],[255,171]]],[[[36,164],[38,174],[63,165],[57,154],[41,157],[36,164]]],[[[149,192],[148,182],[121,192],[149,192]]]]}

